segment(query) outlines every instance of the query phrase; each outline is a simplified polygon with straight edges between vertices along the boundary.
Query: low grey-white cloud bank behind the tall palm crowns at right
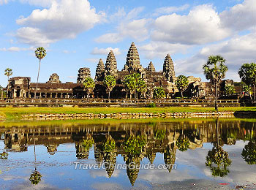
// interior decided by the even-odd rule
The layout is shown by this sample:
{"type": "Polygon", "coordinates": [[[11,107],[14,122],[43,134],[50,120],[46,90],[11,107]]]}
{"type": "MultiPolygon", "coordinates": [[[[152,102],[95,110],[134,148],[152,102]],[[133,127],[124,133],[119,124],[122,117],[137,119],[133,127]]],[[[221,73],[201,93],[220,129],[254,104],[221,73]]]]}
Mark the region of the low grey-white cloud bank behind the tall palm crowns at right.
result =
{"type": "Polygon", "coordinates": [[[203,74],[203,64],[206,64],[208,56],[222,55],[226,59],[229,68],[227,78],[239,81],[238,69],[241,64],[256,61],[256,32],[244,36],[236,36],[224,42],[207,45],[190,58],[176,61],[177,73],[191,75],[193,73],[203,74]]]}

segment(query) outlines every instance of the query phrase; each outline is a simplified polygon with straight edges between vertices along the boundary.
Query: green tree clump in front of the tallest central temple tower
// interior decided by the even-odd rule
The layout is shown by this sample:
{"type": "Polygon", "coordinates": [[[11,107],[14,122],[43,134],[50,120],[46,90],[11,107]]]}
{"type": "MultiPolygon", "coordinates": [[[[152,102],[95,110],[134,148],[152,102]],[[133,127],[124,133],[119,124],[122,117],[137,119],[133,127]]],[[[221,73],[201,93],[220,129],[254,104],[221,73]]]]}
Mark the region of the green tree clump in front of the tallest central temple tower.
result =
{"type": "Polygon", "coordinates": [[[130,94],[134,94],[136,91],[142,94],[146,92],[146,83],[138,73],[125,76],[123,84],[130,94]]]}

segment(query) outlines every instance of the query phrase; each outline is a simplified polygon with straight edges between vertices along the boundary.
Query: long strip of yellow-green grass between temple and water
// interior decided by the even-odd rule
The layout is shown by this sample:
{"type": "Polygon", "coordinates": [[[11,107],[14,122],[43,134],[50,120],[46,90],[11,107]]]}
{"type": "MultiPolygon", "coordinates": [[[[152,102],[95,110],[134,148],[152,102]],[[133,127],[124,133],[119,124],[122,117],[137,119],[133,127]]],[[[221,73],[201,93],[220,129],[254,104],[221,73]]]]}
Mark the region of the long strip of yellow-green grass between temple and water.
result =
{"type": "MultiPolygon", "coordinates": [[[[256,107],[219,107],[219,111],[256,111],[256,107]]],[[[32,113],[205,113],[213,107],[1,107],[0,115],[19,119],[32,113]]]]}

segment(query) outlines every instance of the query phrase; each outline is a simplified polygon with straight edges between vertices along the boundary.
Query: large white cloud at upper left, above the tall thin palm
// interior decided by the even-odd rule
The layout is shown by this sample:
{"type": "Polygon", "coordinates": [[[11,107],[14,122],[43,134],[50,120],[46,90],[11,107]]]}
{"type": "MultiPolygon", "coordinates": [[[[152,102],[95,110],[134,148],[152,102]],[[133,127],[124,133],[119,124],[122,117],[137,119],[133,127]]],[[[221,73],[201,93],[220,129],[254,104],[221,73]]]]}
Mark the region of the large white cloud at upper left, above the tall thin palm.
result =
{"type": "Polygon", "coordinates": [[[16,23],[24,26],[16,34],[19,42],[30,45],[49,45],[60,39],[75,38],[93,28],[104,18],[87,0],[52,1],[48,9],[35,9],[27,18],[16,23]]]}

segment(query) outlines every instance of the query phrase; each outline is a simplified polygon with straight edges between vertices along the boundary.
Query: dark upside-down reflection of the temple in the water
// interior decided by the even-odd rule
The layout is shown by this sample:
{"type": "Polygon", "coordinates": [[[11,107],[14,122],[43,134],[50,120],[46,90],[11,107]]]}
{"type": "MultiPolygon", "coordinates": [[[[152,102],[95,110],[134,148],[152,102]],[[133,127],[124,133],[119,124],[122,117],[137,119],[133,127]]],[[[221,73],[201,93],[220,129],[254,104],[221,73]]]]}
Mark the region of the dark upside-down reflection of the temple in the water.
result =
{"type": "MultiPolygon", "coordinates": [[[[0,132],[7,151],[28,151],[29,145],[35,144],[45,145],[48,153],[54,155],[59,145],[69,142],[75,146],[74,157],[86,160],[93,148],[96,163],[99,166],[105,164],[105,170],[111,178],[118,155],[123,157],[124,163],[139,166],[144,158],[153,164],[156,154],[162,153],[165,164],[175,164],[178,150],[201,148],[205,142],[221,147],[234,145],[236,140],[252,140],[255,123],[214,119],[151,123],[61,123],[34,127],[0,126],[0,132]]],[[[221,175],[228,174],[227,165],[221,175]]],[[[171,170],[168,168],[167,172],[171,170]]],[[[211,170],[213,175],[220,172],[219,169],[211,170]]],[[[132,185],[138,178],[138,172],[138,168],[127,169],[132,185]]]]}

